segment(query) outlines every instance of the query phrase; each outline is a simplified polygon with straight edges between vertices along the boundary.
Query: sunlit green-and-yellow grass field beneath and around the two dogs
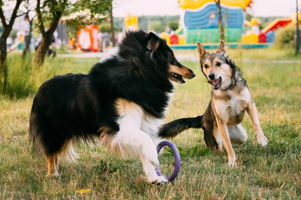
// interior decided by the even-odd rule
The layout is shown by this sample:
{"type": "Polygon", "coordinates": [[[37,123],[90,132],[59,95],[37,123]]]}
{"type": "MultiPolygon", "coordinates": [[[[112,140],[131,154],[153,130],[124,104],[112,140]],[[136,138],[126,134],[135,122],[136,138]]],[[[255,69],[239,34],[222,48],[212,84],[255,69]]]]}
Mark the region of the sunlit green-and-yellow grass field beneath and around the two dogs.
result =
{"type": "MultiPolygon", "coordinates": [[[[281,52],[283,55],[284,51],[276,53],[281,55],[281,52]]],[[[276,57],[272,50],[240,49],[228,54],[236,58],[243,71],[269,140],[266,147],[257,144],[246,115],[243,125],[248,140],[233,145],[237,167],[227,165],[226,150],[215,152],[206,148],[202,129],[190,129],[172,140],[182,159],[181,171],[173,183],[152,185],[143,178],[138,158],[120,160],[103,147],[83,143],[76,146],[80,154],[77,162],[62,161],[61,176],[46,177],[45,157],[34,154],[28,142],[32,95],[3,96],[0,97],[0,199],[301,199],[300,63],[294,61],[297,58],[287,63],[267,61],[276,57]],[[84,188],[92,191],[76,193],[84,188]]],[[[55,65],[54,73],[59,74],[86,73],[96,61],[56,58],[48,61],[47,66],[55,65]]],[[[199,64],[182,63],[197,76],[177,85],[167,121],[203,114],[210,100],[211,87],[199,64]]],[[[159,160],[163,174],[170,174],[173,155],[166,150],[159,160]]]]}

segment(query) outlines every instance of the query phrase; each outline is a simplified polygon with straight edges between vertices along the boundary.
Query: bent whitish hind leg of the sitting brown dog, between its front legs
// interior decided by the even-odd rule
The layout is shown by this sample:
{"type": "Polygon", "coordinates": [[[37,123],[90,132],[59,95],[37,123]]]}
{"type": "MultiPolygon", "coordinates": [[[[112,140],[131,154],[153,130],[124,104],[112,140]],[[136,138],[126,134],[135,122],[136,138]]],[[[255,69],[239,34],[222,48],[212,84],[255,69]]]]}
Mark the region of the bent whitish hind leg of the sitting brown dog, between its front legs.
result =
{"type": "Polygon", "coordinates": [[[227,125],[231,143],[243,143],[247,140],[248,135],[244,127],[239,123],[238,125],[227,125]]]}

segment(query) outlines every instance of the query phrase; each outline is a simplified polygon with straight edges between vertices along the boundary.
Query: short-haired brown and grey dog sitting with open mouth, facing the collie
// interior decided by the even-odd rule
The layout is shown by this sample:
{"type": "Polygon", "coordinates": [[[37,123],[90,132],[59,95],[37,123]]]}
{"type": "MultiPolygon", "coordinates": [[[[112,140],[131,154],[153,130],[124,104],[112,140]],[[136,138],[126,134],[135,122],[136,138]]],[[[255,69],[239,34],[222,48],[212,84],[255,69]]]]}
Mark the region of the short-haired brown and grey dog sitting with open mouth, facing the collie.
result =
{"type": "Polygon", "coordinates": [[[221,40],[215,53],[207,52],[201,42],[197,44],[202,71],[212,85],[209,106],[202,116],[181,118],[165,124],[160,135],[168,138],[185,129],[201,127],[207,146],[218,150],[224,146],[228,153],[228,164],[236,166],[231,142],[242,143],[247,139],[246,130],[241,124],[245,111],[251,118],[258,143],[265,146],[267,138],[261,130],[246,80],[241,78],[242,72],[227,56],[225,42],[221,40]]]}

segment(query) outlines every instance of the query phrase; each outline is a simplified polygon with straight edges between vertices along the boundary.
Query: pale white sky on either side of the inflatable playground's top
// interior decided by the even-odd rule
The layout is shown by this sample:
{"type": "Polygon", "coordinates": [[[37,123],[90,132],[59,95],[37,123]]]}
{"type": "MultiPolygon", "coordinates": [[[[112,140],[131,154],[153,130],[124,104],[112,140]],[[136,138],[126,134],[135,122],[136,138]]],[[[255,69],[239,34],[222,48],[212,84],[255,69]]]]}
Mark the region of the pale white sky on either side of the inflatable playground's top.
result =
{"type": "MultiPolygon", "coordinates": [[[[296,0],[252,0],[247,12],[254,16],[288,16],[296,10],[296,0]]],[[[298,0],[299,8],[301,0],[298,0]]],[[[135,15],[180,14],[178,0],[119,0],[113,9],[113,16],[123,17],[126,13],[135,15]]]]}

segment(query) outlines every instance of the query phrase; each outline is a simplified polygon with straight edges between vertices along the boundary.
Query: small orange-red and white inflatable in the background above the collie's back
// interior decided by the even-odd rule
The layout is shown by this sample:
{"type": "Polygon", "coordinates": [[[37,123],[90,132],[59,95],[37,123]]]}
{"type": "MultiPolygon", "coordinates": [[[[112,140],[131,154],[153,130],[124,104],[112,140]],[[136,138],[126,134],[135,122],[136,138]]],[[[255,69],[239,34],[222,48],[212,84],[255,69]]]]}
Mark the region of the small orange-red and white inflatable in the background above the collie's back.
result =
{"type": "Polygon", "coordinates": [[[86,25],[77,32],[78,47],[84,51],[98,51],[98,26],[86,25]]]}

